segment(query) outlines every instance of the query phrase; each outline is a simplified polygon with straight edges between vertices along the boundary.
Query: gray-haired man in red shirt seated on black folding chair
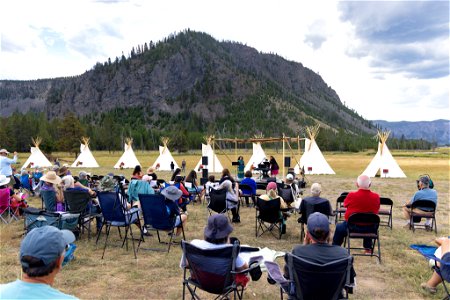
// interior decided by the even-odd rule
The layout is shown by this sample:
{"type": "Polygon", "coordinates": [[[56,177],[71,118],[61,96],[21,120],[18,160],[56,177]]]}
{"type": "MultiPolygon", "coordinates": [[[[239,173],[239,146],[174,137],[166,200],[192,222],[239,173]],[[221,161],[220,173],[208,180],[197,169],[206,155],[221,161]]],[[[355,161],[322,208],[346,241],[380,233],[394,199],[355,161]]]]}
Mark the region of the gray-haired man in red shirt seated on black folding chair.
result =
{"type": "MultiPolygon", "coordinates": [[[[344,200],[345,221],[336,225],[333,236],[333,245],[342,245],[344,238],[347,236],[347,220],[354,213],[374,213],[378,214],[380,210],[380,195],[370,190],[372,182],[367,175],[359,175],[356,180],[357,191],[348,193],[344,200]]],[[[355,228],[357,229],[357,228],[355,228]]],[[[372,240],[365,238],[363,242],[365,252],[371,253],[372,240]]]]}

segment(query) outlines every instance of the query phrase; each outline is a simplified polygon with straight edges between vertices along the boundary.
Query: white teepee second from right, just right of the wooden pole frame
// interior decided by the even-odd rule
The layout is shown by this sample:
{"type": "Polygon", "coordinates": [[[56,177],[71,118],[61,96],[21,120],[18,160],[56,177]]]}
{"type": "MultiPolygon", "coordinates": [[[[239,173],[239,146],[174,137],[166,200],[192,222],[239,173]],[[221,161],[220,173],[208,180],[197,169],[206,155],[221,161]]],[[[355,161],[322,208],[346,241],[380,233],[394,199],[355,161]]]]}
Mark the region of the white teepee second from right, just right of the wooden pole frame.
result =
{"type": "Polygon", "coordinates": [[[300,168],[303,168],[305,174],[336,174],[330,167],[322,152],[317,146],[316,136],[320,125],[306,127],[309,139],[305,139],[305,152],[300,158],[300,166],[297,164],[294,168],[296,174],[300,174],[300,168]]]}

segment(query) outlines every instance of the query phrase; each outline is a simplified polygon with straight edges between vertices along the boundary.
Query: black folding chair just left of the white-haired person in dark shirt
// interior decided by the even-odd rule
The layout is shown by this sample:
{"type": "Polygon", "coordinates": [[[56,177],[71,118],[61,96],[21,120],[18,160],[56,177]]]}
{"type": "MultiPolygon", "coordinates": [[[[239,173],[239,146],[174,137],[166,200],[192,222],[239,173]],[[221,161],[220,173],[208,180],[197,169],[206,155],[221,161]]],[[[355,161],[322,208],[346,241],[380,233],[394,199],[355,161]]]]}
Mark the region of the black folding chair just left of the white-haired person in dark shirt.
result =
{"type": "Polygon", "coordinates": [[[280,198],[275,198],[269,201],[261,198],[256,199],[256,221],[255,221],[255,235],[260,237],[266,232],[278,239],[281,239],[283,214],[280,208],[280,198]],[[274,233],[274,229],[278,230],[278,237],[274,233]],[[261,230],[261,234],[259,234],[261,230]]]}

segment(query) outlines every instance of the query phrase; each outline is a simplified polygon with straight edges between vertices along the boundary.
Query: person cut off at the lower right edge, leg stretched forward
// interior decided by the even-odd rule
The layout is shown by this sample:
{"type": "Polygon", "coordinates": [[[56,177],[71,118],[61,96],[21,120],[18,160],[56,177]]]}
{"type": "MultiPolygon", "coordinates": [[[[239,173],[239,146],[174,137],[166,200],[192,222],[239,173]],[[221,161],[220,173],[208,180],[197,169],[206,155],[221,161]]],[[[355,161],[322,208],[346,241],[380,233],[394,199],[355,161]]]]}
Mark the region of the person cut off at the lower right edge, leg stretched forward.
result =
{"type": "MultiPolygon", "coordinates": [[[[436,239],[435,242],[439,245],[439,248],[437,248],[434,255],[446,262],[445,265],[438,263],[438,266],[441,269],[442,277],[444,277],[445,280],[450,281],[450,238],[442,237],[436,239]]],[[[437,286],[440,283],[442,283],[441,276],[439,276],[436,271],[433,271],[433,275],[431,275],[430,279],[428,279],[427,282],[422,283],[420,286],[430,294],[435,294],[437,292],[437,286]]]]}

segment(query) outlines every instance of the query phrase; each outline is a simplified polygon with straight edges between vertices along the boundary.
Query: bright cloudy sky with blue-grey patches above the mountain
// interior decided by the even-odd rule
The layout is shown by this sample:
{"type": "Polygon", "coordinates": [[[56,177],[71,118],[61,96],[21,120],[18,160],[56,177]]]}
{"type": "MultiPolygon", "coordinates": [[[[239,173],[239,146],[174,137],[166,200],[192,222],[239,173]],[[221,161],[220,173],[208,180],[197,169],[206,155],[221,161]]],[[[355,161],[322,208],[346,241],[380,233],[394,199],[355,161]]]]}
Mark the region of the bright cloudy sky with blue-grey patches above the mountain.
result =
{"type": "Polygon", "coordinates": [[[319,73],[363,117],[449,119],[449,1],[0,2],[0,79],[79,75],[186,28],[319,73]]]}

